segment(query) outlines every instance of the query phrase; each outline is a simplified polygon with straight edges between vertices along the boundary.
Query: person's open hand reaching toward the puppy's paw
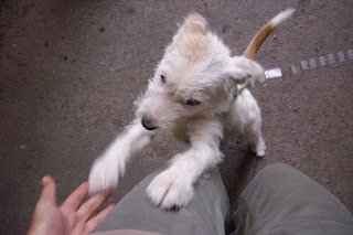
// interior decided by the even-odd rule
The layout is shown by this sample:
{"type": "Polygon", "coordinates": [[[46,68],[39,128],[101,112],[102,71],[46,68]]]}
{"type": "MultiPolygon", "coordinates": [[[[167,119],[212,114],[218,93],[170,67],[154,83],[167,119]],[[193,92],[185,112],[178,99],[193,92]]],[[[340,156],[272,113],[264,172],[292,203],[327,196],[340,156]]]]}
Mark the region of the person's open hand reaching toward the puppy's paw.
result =
{"type": "Polygon", "coordinates": [[[35,205],[28,235],[38,234],[88,234],[114,209],[107,206],[95,217],[90,215],[109,197],[110,193],[98,193],[82,204],[88,192],[88,183],[82,183],[61,206],[56,205],[56,184],[46,175],[42,179],[41,196],[35,205]]]}

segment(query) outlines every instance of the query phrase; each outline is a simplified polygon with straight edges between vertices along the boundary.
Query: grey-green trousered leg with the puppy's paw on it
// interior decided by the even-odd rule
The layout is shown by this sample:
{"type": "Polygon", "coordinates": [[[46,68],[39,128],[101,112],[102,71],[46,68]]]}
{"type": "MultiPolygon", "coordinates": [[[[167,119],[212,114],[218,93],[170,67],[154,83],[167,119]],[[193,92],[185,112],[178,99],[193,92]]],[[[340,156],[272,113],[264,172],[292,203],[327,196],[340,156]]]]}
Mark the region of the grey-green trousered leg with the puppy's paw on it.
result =
{"type": "Polygon", "coordinates": [[[218,171],[203,175],[190,203],[179,211],[152,207],[146,189],[156,171],[135,186],[94,232],[135,229],[160,234],[224,234],[229,202],[218,171]]]}

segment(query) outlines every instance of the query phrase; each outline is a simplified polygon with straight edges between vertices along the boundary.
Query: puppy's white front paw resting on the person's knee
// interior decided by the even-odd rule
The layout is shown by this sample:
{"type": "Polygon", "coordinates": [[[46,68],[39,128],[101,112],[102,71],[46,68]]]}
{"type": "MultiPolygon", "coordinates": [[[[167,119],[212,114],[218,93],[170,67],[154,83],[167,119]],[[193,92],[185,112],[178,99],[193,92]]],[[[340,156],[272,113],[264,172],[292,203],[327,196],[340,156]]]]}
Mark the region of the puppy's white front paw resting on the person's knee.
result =
{"type": "Polygon", "coordinates": [[[153,206],[179,209],[186,205],[193,196],[192,181],[181,172],[165,170],[147,188],[147,195],[153,206]]]}

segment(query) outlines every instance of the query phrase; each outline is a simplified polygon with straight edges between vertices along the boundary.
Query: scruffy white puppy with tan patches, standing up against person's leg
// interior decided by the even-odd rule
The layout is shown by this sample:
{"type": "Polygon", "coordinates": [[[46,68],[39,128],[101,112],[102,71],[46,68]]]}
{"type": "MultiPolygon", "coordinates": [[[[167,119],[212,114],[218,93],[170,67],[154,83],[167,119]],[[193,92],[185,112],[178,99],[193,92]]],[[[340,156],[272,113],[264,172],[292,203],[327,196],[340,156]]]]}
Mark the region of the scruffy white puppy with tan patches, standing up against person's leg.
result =
{"type": "Polygon", "coordinates": [[[201,174],[222,161],[220,141],[227,131],[240,131],[258,157],[265,154],[260,109],[248,89],[234,98],[235,87],[264,78],[263,67],[250,60],[266,36],[293,9],[280,12],[253,39],[243,56],[207,30],[197,13],[189,14],[165,49],[143,96],[136,102],[136,119],[94,162],[89,192],[111,190],[128,159],[160,131],[189,140],[190,149],[176,154],[170,167],[147,189],[153,205],[180,207],[191,200],[201,174]]]}

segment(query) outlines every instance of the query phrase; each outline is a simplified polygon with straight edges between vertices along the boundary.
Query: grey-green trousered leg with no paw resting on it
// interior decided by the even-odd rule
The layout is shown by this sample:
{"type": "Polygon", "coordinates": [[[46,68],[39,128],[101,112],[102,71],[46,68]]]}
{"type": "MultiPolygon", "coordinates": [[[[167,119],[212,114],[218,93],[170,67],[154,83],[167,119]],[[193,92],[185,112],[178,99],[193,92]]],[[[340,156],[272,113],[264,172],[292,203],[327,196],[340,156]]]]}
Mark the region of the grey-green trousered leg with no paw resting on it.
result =
{"type": "Polygon", "coordinates": [[[353,216],[328,190],[276,163],[243,191],[236,215],[238,234],[352,234],[353,216]]]}

